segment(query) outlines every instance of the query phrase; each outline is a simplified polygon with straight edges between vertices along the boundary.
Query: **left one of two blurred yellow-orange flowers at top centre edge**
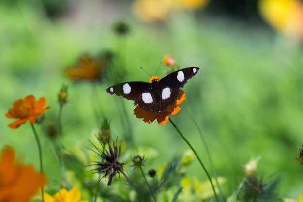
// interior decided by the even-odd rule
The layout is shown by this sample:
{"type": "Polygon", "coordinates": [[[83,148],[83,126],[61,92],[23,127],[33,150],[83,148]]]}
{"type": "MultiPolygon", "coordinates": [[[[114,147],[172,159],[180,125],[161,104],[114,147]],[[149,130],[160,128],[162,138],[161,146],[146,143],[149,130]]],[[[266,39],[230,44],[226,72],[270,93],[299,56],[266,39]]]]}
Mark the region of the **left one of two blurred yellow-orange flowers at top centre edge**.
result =
{"type": "Polygon", "coordinates": [[[170,0],[135,0],[135,14],[145,21],[165,20],[171,10],[170,0]]]}

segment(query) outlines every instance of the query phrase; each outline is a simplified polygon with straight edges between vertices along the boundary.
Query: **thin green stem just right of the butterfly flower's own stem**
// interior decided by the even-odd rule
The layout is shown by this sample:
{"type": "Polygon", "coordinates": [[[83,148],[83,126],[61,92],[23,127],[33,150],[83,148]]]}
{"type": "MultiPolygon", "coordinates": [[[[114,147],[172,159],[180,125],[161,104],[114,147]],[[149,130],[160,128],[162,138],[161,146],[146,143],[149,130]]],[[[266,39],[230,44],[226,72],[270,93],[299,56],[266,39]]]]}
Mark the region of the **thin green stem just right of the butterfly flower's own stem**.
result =
{"type": "Polygon", "coordinates": [[[197,122],[196,122],[196,120],[195,120],[195,118],[194,118],[194,115],[193,115],[193,112],[192,112],[192,110],[191,110],[191,108],[190,108],[190,105],[189,105],[188,100],[186,99],[185,102],[186,102],[186,108],[187,108],[188,114],[189,114],[189,116],[190,116],[192,122],[195,124],[195,126],[196,126],[196,128],[197,128],[197,130],[198,130],[198,132],[199,132],[199,134],[200,134],[200,137],[201,137],[201,139],[202,139],[204,148],[205,148],[205,150],[206,150],[207,157],[208,157],[208,159],[209,159],[209,161],[210,161],[210,163],[211,163],[212,174],[213,174],[214,179],[215,179],[215,181],[216,181],[216,183],[217,183],[217,187],[218,187],[219,194],[220,194],[220,201],[221,201],[221,202],[224,202],[224,198],[223,198],[223,195],[222,195],[221,187],[220,187],[220,185],[219,185],[218,178],[217,178],[217,174],[216,174],[216,171],[215,171],[215,169],[214,169],[213,162],[212,162],[212,156],[211,156],[210,151],[209,151],[209,149],[208,149],[208,146],[207,146],[205,137],[204,137],[204,135],[203,135],[203,133],[202,133],[201,128],[199,127],[199,125],[197,124],[197,122]]]}

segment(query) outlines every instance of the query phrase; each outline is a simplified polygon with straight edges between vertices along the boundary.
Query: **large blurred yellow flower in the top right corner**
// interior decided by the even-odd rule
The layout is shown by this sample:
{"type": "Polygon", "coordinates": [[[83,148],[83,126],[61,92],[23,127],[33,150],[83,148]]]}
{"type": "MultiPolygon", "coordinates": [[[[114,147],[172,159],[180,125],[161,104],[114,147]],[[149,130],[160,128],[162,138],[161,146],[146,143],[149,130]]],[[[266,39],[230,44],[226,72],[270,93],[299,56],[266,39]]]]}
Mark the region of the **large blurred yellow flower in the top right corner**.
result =
{"type": "Polygon", "coordinates": [[[303,3],[300,0],[260,0],[259,10],[274,29],[303,37],[303,3]]]}

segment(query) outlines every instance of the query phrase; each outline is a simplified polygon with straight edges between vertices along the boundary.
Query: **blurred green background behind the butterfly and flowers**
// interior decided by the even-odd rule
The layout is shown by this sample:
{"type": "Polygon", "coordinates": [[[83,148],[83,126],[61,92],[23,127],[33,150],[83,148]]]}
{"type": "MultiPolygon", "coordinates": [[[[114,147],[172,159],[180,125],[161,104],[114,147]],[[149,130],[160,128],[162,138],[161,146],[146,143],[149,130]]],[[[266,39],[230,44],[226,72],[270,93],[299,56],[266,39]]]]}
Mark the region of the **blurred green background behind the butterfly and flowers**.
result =
{"type": "MultiPolygon", "coordinates": [[[[87,139],[99,129],[91,85],[74,84],[63,70],[83,53],[111,50],[119,54],[121,38],[113,24],[123,20],[131,28],[123,38],[125,81],[148,81],[139,67],[153,74],[165,54],[172,54],[181,68],[200,67],[184,91],[206,136],[217,174],[227,178],[226,195],[242,179],[242,166],[261,156],[258,173],[280,176],[280,195],[295,198],[303,190],[303,168],[295,162],[303,142],[303,47],[265,24],[256,1],[247,2],[248,7],[236,1],[228,6],[211,1],[203,10],[177,11],[163,21],[144,22],[133,13],[132,1],[1,1],[0,147],[14,146],[25,162],[38,167],[30,124],[12,130],[7,127],[12,120],[4,114],[14,100],[34,94],[47,99],[46,118],[56,117],[57,92],[63,83],[69,85],[71,99],[63,109],[63,144],[70,149],[90,147],[87,139]]],[[[165,69],[162,65],[160,78],[165,69]]],[[[110,85],[101,81],[97,86],[100,106],[112,120],[113,136],[123,138],[121,108],[106,93],[110,85]]],[[[154,167],[187,149],[171,124],[144,123],[133,115],[133,103],[125,103],[135,144],[159,151],[154,167]]],[[[180,107],[171,118],[210,168],[185,103],[180,107]]],[[[42,144],[49,186],[55,186],[60,167],[45,138],[42,144]]],[[[207,179],[196,161],[187,174],[207,179]]]]}

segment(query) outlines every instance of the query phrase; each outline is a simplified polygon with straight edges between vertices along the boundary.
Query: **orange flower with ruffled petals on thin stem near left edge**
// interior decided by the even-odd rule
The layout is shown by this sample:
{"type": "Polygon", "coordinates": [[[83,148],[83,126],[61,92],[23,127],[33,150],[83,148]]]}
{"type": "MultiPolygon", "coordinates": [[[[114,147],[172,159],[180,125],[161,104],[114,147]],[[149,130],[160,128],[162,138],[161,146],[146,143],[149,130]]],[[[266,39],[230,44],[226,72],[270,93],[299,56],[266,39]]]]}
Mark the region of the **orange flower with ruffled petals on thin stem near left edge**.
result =
{"type": "Polygon", "coordinates": [[[17,128],[21,124],[24,124],[27,120],[33,124],[36,122],[37,116],[44,113],[47,108],[44,108],[46,99],[41,97],[35,102],[33,95],[28,95],[24,99],[16,100],[13,102],[13,108],[9,109],[5,114],[7,118],[17,119],[8,126],[10,128],[17,128]]]}

